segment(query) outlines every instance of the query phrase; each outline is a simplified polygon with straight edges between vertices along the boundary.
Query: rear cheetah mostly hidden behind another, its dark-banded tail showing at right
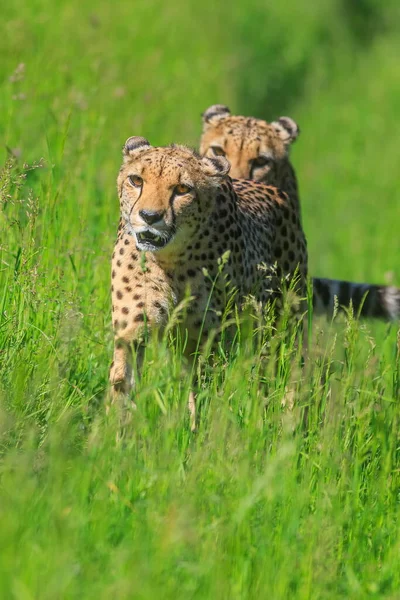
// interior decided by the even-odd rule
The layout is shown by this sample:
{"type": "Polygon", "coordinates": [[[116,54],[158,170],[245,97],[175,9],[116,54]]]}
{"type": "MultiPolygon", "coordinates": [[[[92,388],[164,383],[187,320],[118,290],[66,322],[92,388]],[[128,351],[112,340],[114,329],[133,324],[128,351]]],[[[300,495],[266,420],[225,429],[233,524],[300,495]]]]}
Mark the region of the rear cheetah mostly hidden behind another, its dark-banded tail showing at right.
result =
{"type": "MultiPolygon", "coordinates": [[[[203,113],[200,154],[223,156],[231,163],[230,175],[263,182],[286,192],[297,207],[300,200],[296,173],[289,160],[292,143],[300,129],[290,117],[267,123],[252,117],[234,116],[222,104],[203,113]]],[[[332,314],[339,307],[353,305],[356,314],[394,320],[400,317],[400,289],[392,286],[353,283],[314,277],[314,312],[332,314]]]]}

